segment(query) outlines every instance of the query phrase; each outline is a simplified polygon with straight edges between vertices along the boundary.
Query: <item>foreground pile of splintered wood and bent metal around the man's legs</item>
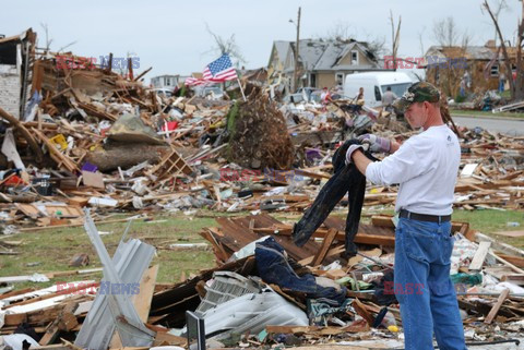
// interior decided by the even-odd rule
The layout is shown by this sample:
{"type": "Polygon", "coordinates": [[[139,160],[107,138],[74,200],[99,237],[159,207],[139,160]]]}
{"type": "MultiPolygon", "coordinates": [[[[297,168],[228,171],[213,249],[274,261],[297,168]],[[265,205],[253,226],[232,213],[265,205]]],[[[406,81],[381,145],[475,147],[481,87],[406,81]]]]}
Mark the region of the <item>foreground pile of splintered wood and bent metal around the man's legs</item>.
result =
{"type": "MultiPolygon", "coordinates": [[[[86,218],[104,279],[2,290],[5,341],[21,342],[9,337],[25,334],[43,349],[57,342],[90,349],[184,347],[199,337],[219,348],[403,346],[395,295],[409,291],[393,283],[392,217],[360,224],[358,253],[349,260],[341,254],[345,220],[336,216],[300,249],[290,238],[293,222],[269,215],[221,217],[218,227],[202,231],[217,267],[174,286],[155,286],[158,266],[148,267],[153,246],[122,238],[111,261],[86,218]],[[203,327],[191,317],[203,319],[203,327]]],[[[524,252],[465,222],[453,222],[453,232],[451,278],[468,343],[522,340],[524,252]]],[[[414,288],[428,292],[425,286],[414,288]]]]}

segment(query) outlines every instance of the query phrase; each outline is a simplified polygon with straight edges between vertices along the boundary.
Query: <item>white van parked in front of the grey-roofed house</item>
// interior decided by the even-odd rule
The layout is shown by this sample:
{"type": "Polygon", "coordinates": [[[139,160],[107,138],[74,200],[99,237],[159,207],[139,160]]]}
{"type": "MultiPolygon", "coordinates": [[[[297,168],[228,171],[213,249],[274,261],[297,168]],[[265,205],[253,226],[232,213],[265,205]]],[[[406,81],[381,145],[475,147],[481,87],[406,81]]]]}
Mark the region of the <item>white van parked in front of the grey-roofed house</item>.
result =
{"type": "Polygon", "coordinates": [[[355,98],[358,89],[364,87],[364,99],[368,107],[382,105],[382,95],[388,86],[396,96],[401,97],[414,82],[406,73],[400,72],[368,72],[346,75],[344,95],[355,98]]]}

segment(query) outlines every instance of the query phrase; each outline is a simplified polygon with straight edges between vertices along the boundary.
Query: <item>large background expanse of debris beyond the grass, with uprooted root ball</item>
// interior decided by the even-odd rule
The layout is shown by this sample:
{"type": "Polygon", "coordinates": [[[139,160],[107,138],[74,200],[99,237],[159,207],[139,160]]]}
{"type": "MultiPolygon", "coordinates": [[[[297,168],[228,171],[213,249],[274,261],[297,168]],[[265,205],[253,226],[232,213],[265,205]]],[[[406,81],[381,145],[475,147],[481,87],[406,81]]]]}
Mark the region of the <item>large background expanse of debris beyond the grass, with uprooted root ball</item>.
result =
{"type": "MultiPolygon", "coordinates": [[[[31,47],[33,35],[2,43],[31,47]]],[[[242,81],[246,101],[167,97],[143,85],[148,70],[114,72],[111,56],[103,65],[27,52],[22,113],[0,106],[2,220],[22,230],[80,225],[85,206],[97,220],[142,209],[302,212],[330,179],[342,142],[413,133],[394,114],[352,100],[277,102],[259,81],[242,81]]],[[[522,208],[523,140],[461,133],[456,205],[522,208]]],[[[395,197],[395,186],[368,186],[365,206],[395,197]]]]}

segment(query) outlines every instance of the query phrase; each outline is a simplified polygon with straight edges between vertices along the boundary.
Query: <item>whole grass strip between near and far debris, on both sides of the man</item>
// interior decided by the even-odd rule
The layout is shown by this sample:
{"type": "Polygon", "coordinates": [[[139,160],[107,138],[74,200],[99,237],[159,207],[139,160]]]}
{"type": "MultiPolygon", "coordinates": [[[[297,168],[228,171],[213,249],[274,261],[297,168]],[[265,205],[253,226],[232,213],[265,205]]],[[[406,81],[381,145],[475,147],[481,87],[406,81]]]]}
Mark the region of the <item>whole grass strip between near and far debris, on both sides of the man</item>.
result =
{"type": "MultiPolygon", "coordinates": [[[[384,213],[391,214],[391,210],[384,213]]],[[[215,266],[215,256],[211,249],[209,250],[164,250],[170,243],[196,243],[205,242],[199,236],[199,232],[206,227],[217,226],[215,217],[230,216],[230,214],[204,212],[196,217],[184,215],[158,216],[157,222],[134,221],[128,233],[128,238],[136,238],[157,248],[157,254],[153,258],[153,264],[159,264],[157,282],[176,283],[180,281],[182,273],[189,277],[191,274],[199,274],[201,269],[215,266]],[[160,221],[166,220],[166,221],[160,221]]],[[[236,214],[245,216],[248,213],[236,214]]],[[[345,216],[345,212],[337,213],[345,216]]],[[[277,219],[283,221],[294,221],[300,218],[300,215],[290,216],[287,214],[275,214],[277,219]]],[[[522,212],[500,212],[500,210],[455,210],[453,213],[454,221],[467,221],[471,227],[485,234],[524,249],[524,239],[512,239],[502,236],[491,234],[493,231],[512,231],[524,229],[524,213],[522,212]],[[508,222],[520,222],[520,227],[508,227],[508,222]]],[[[126,222],[98,225],[98,231],[112,232],[102,236],[106,249],[112,256],[117,244],[126,228],[126,222]]],[[[68,229],[51,229],[36,232],[17,233],[3,239],[4,241],[23,241],[23,244],[16,246],[19,255],[0,255],[0,277],[32,275],[34,273],[51,273],[63,270],[76,270],[78,267],[69,267],[70,260],[78,253],[86,253],[91,263],[86,267],[102,267],[98,256],[91,244],[91,241],[82,227],[68,229]],[[38,263],[36,266],[28,264],[38,263]]],[[[52,279],[47,283],[23,282],[16,283],[15,288],[35,287],[44,288],[58,281],[73,280],[98,280],[102,273],[82,276],[64,276],[52,279]]]]}

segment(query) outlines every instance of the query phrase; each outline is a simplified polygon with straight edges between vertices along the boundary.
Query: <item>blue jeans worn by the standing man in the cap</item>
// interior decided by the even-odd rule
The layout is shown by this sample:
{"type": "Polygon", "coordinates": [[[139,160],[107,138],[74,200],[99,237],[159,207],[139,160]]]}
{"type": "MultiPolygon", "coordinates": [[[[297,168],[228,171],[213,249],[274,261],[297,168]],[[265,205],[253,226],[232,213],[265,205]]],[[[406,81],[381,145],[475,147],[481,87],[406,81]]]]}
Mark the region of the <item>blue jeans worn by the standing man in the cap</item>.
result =
{"type": "Polygon", "coordinates": [[[451,222],[401,218],[395,232],[394,292],[406,350],[464,350],[464,328],[450,279],[451,222]]]}

